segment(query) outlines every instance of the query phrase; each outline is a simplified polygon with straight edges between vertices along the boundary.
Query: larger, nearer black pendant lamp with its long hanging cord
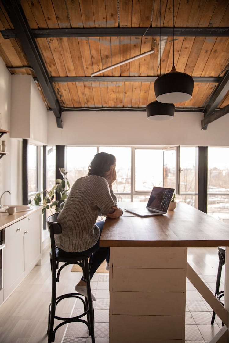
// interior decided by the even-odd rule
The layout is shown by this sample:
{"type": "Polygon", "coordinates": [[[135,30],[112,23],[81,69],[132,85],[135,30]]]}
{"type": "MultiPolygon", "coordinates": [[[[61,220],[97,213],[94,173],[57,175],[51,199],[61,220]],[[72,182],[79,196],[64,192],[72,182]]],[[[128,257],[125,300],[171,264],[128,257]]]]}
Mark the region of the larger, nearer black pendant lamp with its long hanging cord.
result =
{"type": "Polygon", "coordinates": [[[193,78],[176,71],[174,66],[174,0],[173,0],[173,66],[169,73],[159,76],[154,82],[157,101],[165,104],[182,103],[192,98],[193,78]]]}

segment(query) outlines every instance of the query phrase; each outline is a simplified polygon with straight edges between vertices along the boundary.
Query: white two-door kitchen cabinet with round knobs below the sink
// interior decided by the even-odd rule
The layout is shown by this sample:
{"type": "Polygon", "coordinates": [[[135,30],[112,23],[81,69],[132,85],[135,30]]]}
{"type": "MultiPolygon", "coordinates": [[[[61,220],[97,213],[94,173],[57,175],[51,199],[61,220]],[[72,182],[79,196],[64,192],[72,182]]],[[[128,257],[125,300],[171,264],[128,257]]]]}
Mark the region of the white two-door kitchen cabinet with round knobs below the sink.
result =
{"type": "Polygon", "coordinates": [[[4,229],[4,300],[40,262],[41,220],[41,211],[37,211],[4,229]]]}

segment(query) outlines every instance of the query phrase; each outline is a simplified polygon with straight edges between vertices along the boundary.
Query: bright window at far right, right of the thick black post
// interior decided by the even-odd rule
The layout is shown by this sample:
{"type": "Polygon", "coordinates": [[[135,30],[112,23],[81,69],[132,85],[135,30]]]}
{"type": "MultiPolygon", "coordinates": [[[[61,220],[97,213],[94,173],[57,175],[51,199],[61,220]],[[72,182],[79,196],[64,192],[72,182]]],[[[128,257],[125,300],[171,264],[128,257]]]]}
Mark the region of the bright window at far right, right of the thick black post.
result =
{"type": "Polygon", "coordinates": [[[208,147],[207,213],[229,223],[229,148],[208,147]]]}

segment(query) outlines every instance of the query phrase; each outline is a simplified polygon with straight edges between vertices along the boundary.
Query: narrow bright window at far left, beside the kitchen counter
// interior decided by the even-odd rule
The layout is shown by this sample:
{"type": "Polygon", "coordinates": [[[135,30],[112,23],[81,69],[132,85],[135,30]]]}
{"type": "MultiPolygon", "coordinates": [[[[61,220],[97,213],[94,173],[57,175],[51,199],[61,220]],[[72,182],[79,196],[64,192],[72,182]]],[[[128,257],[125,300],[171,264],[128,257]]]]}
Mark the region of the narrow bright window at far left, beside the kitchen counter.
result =
{"type": "Polygon", "coordinates": [[[28,144],[28,194],[38,191],[38,147],[28,144]]]}

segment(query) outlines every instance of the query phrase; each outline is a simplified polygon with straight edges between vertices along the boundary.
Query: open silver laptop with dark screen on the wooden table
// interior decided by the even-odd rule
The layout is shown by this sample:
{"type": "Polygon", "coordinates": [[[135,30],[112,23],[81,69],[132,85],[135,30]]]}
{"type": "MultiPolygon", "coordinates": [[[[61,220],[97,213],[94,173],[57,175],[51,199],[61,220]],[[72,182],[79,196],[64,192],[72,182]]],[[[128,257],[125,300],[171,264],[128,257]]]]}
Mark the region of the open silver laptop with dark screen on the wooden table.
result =
{"type": "Polygon", "coordinates": [[[153,187],[146,208],[125,209],[127,212],[139,217],[151,217],[154,215],[166,214],[174,188],[153,187]]]}

